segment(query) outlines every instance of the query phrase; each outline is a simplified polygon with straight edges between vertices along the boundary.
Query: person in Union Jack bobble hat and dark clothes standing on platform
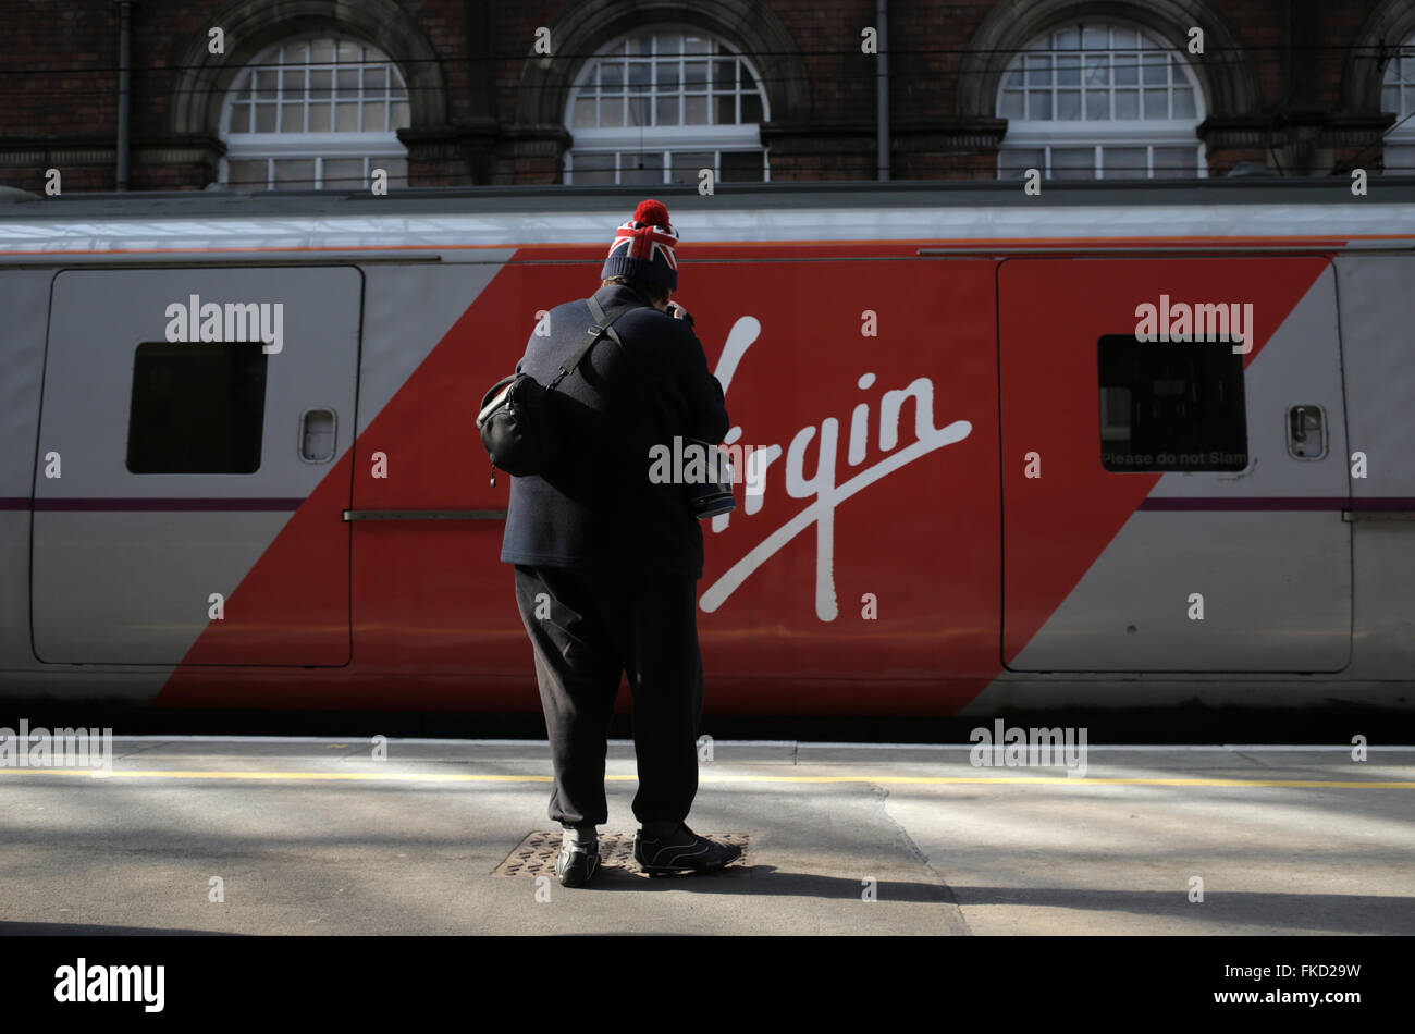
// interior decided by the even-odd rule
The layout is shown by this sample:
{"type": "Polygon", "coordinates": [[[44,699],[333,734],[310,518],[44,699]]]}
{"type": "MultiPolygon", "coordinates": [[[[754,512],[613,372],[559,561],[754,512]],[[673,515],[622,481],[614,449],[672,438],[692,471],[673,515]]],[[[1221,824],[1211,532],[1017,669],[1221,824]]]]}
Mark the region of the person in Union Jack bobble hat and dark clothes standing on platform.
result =
{"type": "Polygon", "coordinates": [[[532,334],[516,366],[549,383],[587,328],[610,325],[556,389],[574,450],[539,477],[511,480],[501,546],[535,652],[555,767],[549,815],[563,829],[556,873],[566,887],[599,869],[596,826],[608,819],[604,762],[623,675],[634,693],[635,861],[671,874],[741,854],[685,825],[698,794],[703,536],[683,487],[649,480],[649,450],[675,436],[720,441],[729,420],[692,317],[671,301],[676,245],[664,205],[641,202],[618,228],[593,298],[550,310],[549,335],[532,334]]]}

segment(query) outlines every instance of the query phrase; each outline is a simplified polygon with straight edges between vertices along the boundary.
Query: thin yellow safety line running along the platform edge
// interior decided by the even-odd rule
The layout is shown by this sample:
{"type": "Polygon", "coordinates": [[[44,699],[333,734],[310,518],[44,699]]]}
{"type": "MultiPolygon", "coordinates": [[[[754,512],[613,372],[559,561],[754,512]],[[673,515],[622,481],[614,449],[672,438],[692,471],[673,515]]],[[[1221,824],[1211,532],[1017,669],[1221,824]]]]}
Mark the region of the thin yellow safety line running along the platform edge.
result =
{"type": "MultiPolygon", "coordinates": [[[[477,772],[229,772],[168,768],[127,768],[105,772],[89,768],[3,768],[0,775],[82,775],[91,779],[255,779],[262,782],[552,782],[549,775],[487,775],[477,772]]],[[[610,782],[637,775],[606,775],[610,782]]],[[[1378,782],[1332,779],[1148,779],[1065,775],[702,775],[702,782],[890,782],[925,786],[1060,785],[1060,786],[1292,786],[1298,789],[1415,789],[1415,781],[1378,782]]]]}

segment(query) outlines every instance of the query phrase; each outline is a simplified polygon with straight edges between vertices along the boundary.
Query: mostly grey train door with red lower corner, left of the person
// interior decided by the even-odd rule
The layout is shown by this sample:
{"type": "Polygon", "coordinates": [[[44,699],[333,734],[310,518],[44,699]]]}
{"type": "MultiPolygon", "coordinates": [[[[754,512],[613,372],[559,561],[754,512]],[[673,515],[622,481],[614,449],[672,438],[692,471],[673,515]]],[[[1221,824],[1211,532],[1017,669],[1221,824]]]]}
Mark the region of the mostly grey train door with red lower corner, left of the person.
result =
{"type": "Polygon", "coordinates": [[[361,273],[333,266],[55,277],[31,545],[41,661],[348,661],[341,457],[361,296],[361,273]],[[267,553],[294,521],[299,550],[267,553]],[[266,591],[242,594],[256,580],[266,591]]]}

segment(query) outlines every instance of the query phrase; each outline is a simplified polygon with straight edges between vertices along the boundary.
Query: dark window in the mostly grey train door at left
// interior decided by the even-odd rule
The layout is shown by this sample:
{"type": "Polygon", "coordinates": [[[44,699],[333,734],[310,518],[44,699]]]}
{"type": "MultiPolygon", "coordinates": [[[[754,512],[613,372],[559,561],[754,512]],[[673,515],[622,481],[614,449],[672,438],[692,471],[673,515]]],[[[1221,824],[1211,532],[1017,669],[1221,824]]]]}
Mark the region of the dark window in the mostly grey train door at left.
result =
{"type": "Polygon", "coordinates": [[[147,341],[133,361],[127,470],[255,474],[265,423],[260,344],[147,341]]]}

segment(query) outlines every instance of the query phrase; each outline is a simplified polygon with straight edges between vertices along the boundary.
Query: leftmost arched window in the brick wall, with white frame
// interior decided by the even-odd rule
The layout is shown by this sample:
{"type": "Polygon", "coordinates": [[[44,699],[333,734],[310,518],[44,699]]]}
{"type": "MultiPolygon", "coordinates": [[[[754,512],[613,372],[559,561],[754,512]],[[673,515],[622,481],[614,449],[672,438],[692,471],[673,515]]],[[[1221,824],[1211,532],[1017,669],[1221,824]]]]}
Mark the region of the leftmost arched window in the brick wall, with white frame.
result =
{"type": "Polygon", "coordinates": [[[362,190],[374,168],[408,182],[408,86],[375,47],[330,37],[263,51],[226,93],[221,181],[236,190],[362,190]]]}

